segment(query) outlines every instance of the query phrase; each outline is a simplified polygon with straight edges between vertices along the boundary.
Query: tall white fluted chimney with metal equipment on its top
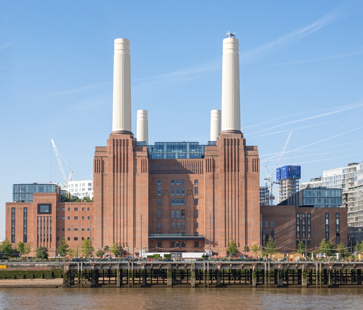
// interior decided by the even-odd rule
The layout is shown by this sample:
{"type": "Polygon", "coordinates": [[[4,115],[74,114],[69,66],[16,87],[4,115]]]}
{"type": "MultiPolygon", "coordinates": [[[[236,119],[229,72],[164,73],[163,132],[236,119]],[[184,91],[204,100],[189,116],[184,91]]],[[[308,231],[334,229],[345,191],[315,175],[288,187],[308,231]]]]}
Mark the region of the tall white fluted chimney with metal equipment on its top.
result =
{"type": "Polygon", "coordinates": [[[222,124],[223,133],[241,133],[240,61],[238,39],[223,40],[222,57],[222,124]]]}

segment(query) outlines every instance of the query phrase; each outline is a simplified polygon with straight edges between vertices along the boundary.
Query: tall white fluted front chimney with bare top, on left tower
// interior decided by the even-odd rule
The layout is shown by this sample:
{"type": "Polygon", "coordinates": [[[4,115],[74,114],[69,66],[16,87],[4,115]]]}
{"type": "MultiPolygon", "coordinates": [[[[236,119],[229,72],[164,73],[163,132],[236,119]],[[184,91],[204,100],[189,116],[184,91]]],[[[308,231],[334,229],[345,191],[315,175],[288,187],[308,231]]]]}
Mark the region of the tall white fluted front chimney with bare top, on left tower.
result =
{"type": "Polygon", "coordinates": [[[114,46],[112,133],[132,134],[130,40],[116,39],[114,46]]]}

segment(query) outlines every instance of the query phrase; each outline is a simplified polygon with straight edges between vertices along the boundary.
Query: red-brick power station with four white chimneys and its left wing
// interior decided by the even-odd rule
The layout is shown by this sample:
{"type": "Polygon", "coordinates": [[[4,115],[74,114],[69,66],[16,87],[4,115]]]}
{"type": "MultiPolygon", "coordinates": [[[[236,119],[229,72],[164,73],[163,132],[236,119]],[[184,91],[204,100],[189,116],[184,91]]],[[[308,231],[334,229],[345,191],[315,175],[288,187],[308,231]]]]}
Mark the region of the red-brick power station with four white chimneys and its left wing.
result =
{"type": "Polygon", "coordinates": [[[260,162],[240,123],[238,39],[223,40],[221,110],[211,111],[211,141],[148,142],[146,110],[131,132],[130,41],[114,44],[113,121],[96,146],[93,202],[62,202],[55,184],[23,184],[26,201],[6,204],[6,237],[57,253],[90,238],[95,249],[121,245],[130,255],[211,251],[260,244],[260,162]],[[38,190],[31,190],[37,187],[38,190]],[[210,248],[209,248],[210,247],[210,248]]]}

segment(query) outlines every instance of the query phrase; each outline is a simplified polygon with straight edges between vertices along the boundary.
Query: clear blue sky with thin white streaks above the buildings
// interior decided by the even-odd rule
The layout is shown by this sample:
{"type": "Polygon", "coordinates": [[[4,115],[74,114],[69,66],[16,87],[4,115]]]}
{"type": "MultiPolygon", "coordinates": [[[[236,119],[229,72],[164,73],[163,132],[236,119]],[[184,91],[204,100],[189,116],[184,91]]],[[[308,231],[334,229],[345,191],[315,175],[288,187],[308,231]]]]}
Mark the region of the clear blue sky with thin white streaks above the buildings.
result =
{"type": "Polygon", "coordinates": [[[301,182],[362,161],[362,13],[362,1],[334,0],[3,2],[0,239],[12,184],[62,182],[50,137],[74,179],[92,178],[112,129],[115,38],[130,39],[132,131],[148,110],[150,143],[209,140],[234,31],[241,128],[258,146],[261,185],[290,131],[280,166],[301,165],[301,182]]]}

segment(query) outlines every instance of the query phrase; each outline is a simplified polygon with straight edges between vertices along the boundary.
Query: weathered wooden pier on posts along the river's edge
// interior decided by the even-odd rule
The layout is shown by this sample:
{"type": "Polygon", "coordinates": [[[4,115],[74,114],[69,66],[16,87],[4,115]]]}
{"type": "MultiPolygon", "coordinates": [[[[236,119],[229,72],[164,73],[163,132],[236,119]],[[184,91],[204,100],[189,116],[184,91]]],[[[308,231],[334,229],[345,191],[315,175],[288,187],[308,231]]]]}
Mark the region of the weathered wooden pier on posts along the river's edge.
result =
{"type": "Polygon", "coordinates": [[[63,287],[363,288],[361,262],[219,260],[67,262],[63,287]]]}

